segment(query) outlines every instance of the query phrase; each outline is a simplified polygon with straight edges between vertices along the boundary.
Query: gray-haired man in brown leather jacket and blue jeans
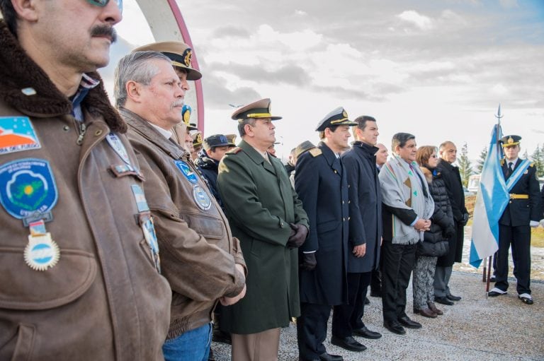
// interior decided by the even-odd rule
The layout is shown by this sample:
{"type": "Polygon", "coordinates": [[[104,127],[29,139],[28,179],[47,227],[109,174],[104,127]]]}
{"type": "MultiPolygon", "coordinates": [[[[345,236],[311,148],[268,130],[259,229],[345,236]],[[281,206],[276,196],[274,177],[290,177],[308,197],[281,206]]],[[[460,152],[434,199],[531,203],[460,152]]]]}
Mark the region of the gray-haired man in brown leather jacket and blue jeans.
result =
{"type": "MultiPolygon", "coordinates": [[[[182,69],[183,70],[183,69],[182,69]]],[[[158,52],[134,52],[115,69],[115,100],[145,176],[145,194],[161,247],[162,273],[173,290],[166,360],[208,360],[217,300],[245,294],[238,239],[198,174],[171,140],[193,73],[174,71],[158,52]]]]}

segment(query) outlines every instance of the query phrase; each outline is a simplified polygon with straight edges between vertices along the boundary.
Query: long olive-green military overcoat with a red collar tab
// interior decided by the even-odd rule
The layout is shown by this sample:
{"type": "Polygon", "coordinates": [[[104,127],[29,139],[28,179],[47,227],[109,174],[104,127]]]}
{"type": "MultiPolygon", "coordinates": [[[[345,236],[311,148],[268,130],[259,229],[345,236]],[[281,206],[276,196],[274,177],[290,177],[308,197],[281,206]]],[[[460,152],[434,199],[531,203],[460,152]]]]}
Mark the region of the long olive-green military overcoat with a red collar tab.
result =
{"type": "Polygon", "coordinates": [[[282,163],[269,158],[242,141],[219,165],[217,187],[248,270],[246,296],[222,309],[230,333],[285,327],[300,315],[297,249],[286,245],[289,223],[308,227],[308,218],[282,163]]]}

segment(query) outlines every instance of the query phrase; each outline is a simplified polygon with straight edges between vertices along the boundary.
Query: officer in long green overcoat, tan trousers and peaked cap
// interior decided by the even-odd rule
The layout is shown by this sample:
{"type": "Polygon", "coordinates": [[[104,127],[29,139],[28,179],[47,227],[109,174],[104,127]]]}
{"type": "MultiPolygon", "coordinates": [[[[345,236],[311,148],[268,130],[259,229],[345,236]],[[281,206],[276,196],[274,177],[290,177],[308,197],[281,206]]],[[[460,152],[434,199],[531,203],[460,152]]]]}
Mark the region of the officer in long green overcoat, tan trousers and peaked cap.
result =
{"type": "Polygon", "coordinates": [[[300,315],[297,248],[308,218],[283,164],[267,149],[276,141],[270,99],[232,114],[242,136],[219,165],[217,187],[232,234],[246,259],[247,292],[225,307],[222,329],[232,333],[232,360],[276,360],[280,327],[300,315]]]}

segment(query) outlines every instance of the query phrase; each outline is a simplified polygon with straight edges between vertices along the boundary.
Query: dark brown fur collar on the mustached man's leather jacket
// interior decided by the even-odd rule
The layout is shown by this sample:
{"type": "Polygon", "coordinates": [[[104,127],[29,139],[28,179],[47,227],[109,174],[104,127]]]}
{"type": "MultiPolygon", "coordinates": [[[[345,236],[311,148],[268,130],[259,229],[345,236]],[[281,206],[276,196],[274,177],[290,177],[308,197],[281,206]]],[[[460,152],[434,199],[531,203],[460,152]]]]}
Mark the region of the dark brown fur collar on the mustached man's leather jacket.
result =
{"type": "MultiPolygon", "coordinates": [[[[72,112],[72,102],[57,89],[47,74],[21,48],[16,37],[0,20],[0,99],[32,117],[58,117],[72,112]],[[35,95],[24,95],[33,88],[35,95]]],[[[81,107],[94,116],[102,116],[112,131],[125,133],[127,126],[111,106],[98,73],[88,73],[100,80],[86,95],[81,107]]]]}

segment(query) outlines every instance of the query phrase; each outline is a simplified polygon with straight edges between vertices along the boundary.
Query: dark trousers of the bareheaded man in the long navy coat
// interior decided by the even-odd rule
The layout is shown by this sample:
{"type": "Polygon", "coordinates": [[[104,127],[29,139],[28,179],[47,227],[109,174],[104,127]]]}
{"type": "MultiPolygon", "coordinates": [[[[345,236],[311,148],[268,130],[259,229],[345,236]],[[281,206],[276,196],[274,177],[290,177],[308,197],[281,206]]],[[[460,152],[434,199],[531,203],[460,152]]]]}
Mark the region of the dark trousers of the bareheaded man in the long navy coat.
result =
{"type": "Polygon", "coordinates": [[[348,273],[348,304],[334,306],[332,335],[345,338],[353,336],[353,330],[361,329],[365,314],[365,297],[372,272],[348,273]]]}

